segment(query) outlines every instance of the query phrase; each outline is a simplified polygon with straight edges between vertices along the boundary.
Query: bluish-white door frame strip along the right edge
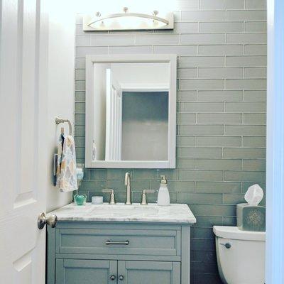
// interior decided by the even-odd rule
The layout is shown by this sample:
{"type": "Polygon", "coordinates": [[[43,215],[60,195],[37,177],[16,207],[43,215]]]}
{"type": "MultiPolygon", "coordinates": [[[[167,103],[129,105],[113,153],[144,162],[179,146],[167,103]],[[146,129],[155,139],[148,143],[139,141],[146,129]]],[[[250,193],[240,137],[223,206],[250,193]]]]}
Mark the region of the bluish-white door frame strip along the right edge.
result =
{"type": "Polygon", "coordinates": [[[267,1],[266,284],[284,283],[284,1],[267,1]]]}

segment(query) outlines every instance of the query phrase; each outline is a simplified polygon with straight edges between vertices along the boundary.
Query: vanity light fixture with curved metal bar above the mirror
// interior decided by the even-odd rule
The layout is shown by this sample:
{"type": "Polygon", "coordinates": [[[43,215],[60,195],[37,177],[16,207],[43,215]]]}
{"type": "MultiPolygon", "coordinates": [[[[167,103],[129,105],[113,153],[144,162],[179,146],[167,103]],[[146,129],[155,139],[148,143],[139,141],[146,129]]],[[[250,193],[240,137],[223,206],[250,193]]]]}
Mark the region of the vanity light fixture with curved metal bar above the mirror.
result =
{"type": "Polygon", "coordinates": [[[122,13],[111,13],[106,16],[98,11],[94,16],[83,17],[83,31],[126,31],[126,30],[163,30],[173,29],[173,13],[158,16],[159,11],[152,14],[130,13],[124,7],[122,13]]]}

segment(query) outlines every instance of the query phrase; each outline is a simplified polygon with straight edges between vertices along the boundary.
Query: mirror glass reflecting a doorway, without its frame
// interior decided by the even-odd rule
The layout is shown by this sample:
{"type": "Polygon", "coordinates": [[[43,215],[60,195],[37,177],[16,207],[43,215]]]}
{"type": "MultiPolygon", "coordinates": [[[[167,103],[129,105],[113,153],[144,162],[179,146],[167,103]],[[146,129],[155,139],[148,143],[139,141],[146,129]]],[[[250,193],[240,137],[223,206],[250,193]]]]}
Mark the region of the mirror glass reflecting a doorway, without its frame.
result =
{"type": "Polygon", "coordinates": [[[94,63],[92,160],[168,160],[168,62],[94,63]]]}

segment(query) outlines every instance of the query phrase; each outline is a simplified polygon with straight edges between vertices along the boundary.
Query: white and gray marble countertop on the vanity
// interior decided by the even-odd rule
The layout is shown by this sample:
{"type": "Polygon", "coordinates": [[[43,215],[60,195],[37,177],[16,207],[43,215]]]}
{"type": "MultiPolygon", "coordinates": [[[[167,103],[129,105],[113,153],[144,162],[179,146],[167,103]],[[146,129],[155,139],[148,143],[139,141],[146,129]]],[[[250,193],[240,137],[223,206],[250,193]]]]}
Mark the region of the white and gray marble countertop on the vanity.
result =
{"type": "Polygon", "coordinates": [[[82,206],[70,203],[48,213],[50,214],[56,214],[58,221],[196,223],[195,216],[187,204],[170,204],[170,206],[163,207],[155,203],[95,205],[88,202],[82,206]]]}

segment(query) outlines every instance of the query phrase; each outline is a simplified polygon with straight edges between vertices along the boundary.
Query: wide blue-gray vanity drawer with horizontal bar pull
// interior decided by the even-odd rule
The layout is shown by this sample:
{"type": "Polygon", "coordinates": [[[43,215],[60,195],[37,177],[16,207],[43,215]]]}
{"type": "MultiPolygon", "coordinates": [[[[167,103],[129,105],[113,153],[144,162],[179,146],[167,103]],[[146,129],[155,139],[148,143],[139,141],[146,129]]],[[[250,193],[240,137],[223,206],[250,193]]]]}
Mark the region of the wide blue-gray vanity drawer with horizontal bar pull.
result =
{"type": "Polygon", "coordinates": [[[56,229],[56,252],[180,256],[180,230],[56,229]]]}

